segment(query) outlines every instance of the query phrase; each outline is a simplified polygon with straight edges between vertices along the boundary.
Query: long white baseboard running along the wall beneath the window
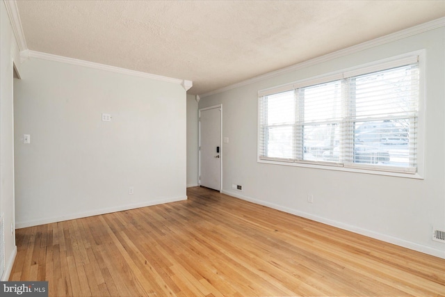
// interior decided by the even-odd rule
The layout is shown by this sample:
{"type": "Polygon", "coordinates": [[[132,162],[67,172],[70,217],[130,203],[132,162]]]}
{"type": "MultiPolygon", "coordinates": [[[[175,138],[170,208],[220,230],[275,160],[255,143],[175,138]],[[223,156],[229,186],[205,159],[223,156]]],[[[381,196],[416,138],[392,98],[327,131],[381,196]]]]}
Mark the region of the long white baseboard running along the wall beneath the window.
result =
{"type": "Polygon", "coordinates": [[[303,212],[303,211],[298,211],[296,209],[291,209],[289,207],[283,207],[283,206],[278,205],[278,204],[265,202],[265,201],[262,201],[262,200],[257,200],[257,199],[250,198],[250,197],[245,196],[245,195],[240,195],[239,193],[236,193],[236,192],[222,191],[222,193],[224,193],[226,195],[231,195],[231,196],[239,198],[241,200],[246,200],[246,201],[249,201],[249,202],[252,202],[252,203],[255,203],[255,204],[260,204],[260,205],[263,205],[265,207],[270,207],[272,209],[277,209],[277,210],[280,210],[280,211],[284,211],[284,212],[286,212],[288,214],[294,214],[296,216],[301,216],[302,218],[308,218],[309,220],[315,220],[316,222],[319,222],[319,223],[323,223],[323,224],[330,225],[330,226],[333,226],[333,227],[337,227],[337,228],[340,228],[340,229],[343,229],[343,230],[347,230],[347,231],[350,231],[350,232],[354,232],[354,233],[357,233],[357,234],[368,236],[368,237],[371,237],[373,239],[378,239],[378,240],[381,240],[381,241],[385,241],[387,243],[392,243],[392,244],[395,244],[396,246],[402,246],[403,248],[409,248],[410,250],[416,250],[418,252],[423,252],[423,253],[428,254],[428,255],[432,255],[432,256],[435,256],[435,257],[439,257],[439,258],[445,259],[445,250],[437,250],[437,249],[431,248],[429,246],[423,246],[423,245],[421,245],[419,243],[414,243],[414,242],[411,242],[411,241],[405,241],[404,239],[399,239],[399,238],[396,238],[396,237],[393,237],[393,236],[389,236],[389,235],[386,235],[386,234],[381,234],[381,233],[373,232],[371,230],[366,230],[366,229],[363,229],[363,228],[360,228],[360,227],[355,227],[353,225],[348,225],[348,224],[345,224],[345,223],[341,223],[341,222],[338,222],[337,220],[330,220],[328,218],[323,218],[321,216],[315,216],[313,214],[307,214],[306,212],[303,212]]]}

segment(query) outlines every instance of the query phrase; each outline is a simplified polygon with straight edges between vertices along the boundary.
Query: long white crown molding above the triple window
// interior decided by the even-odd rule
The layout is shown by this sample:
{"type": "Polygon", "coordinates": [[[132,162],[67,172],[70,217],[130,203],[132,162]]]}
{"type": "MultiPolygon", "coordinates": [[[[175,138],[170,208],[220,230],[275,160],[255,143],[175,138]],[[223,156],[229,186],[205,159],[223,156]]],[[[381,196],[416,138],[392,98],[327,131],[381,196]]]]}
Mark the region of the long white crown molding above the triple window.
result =
{"type": "Polygon", "coordinates": [[[309,67],[309,66],[312,66],[312,65],[323,63],[325,61],[330,61],[330,60],[333,60],[334,58],[340,58],[340,57],[343,57],[343,56],[348,56],[350,54],[357,53],[358,51],[363,51],[365,49],[371,49],[373,47],[378,47],[379,45],[385,45],[386,43],[389,43],[389,42],[393,42],[393,41],[396,41],[396,40],[401,40],[403,38],[407,38],[407,37],[410,37],[412,35],[420,34],[420,33],[426,32],[426,31],[438,29],[438,28],[443,27],[443,26],[445,26],[445,17],[441,17],[439,19],[435,19],[435,20],[432,20],[430,22],[426,22],[424,24],[413,26],[411,28],[404,29],[402,31],[398,31],[396,33],[391,33],[389,35],[385,35],[385,36],[382,36],[380,38],[375,38],[373,40],[362,42],[359,45],[353,45],[352,47],[348,47],[346,49],[340,49],[339,51],[334,51],[334,52],[332,52],[330,54],[325,54],[325,55],[319,56],[317,58],[312,58],[312,59],[307,60],[307,61],[302,62],[302,63],[291,65],[289,67],[284,67],[284,68],[282,68],[280,70],[275,70],[273,72],[268,72],[266,74],[261,74],[258,77],[252,77],[251,79],[246,79],[245,81],[240,81],[240,82],[234,83],[234,84],[232,84],[230,86],[226,86],[224,88],[219,88],[218,90],[213,90],[213,91],[211,91],[209,93],[201,94],[200,97],[204,98],[204,97],[208,97],[210,95],[223,93],[223,92],[225,92],[227,90],[232,90],[234,88],[239,88],[241,86],[247,86],[250,83],[254,83],[254,82],[257,82],[257,81],[262,81],[264,79],[269,79],[269,78],[272,78],[272,77],[277,77],[279,75],[286,74],[286,73],[289,73],[289,72],[293,72],[293,71],[296,71],[296,70],[300,70],[300,69],[305,68],[305,67],[309,67]]]}

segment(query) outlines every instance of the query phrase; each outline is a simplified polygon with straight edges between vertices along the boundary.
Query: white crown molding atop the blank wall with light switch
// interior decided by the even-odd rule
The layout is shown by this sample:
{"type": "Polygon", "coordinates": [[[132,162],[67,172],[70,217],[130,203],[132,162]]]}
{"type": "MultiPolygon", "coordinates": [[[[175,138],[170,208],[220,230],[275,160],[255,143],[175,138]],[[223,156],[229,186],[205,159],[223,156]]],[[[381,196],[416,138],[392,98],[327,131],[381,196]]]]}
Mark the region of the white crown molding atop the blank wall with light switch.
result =
{"type": "Polygon", "coordinates": [[[127,74],[127,75],[131,75],[133,77],[143,77],[145,79],[154,79],[157,81],[166,81],[168,83],[177,83],[177,84],[183,86],[184,89],[186,89],[186,90],[188,90],[188,88],[191,88],[193,86],[192,81],[187,81],[184,79],[173,79],[171,77],[163,77],[161,75],[150,74],[147,72],[140,72],[140,71],[136,71],[136,70],[129,70],[129,69],[105,65],[105,64],[83,61],[83,60],[79,60],[79,59],[75,59],[75,58],[67,58],[64,56],[56,56],[53,54],[46,54],[46,53],[42,53],[40,51],[25,50],[25,51],[20,52],[20,56],[23,60],[26,60],[29,58],[40,58],[43,60],[55,61],[55,62],[83,66],[83,67],[89,67],[89,68],[93,68],[93,69],[97,69],[97,70],[105,70],[105,71],[116,72],[116,73],[120,73],[120,74],[127,74]]]}

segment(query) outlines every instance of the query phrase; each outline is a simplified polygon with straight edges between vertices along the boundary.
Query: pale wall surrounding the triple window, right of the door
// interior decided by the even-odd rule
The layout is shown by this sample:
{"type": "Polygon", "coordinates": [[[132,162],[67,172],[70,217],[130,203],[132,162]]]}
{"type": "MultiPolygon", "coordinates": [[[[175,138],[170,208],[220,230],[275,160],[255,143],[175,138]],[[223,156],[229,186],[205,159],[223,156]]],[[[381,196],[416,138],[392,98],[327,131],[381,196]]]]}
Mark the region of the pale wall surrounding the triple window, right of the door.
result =
{"type": "Polygon", "coordinates": [[[224,104],[223,193],[445,257],[445,244],[431,239],[433,226],[445,230],[444,38],[441,27],[202,97],[200,109],[224,104]],[[258,90],[419,49],[427,58],[424,179],[257,163],[258,90]]]}

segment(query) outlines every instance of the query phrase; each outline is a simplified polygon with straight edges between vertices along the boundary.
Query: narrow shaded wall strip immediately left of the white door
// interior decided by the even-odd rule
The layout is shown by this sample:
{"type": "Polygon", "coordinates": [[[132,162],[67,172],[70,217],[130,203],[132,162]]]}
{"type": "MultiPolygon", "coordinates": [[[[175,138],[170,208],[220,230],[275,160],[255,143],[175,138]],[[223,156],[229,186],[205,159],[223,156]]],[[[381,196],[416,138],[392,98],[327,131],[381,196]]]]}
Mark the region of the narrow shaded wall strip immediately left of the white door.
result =
{"type": "Polygon", "coordinates": [[[198,115],[195,95],[187,95],[187,186],[197,186],[198,115]]]}

